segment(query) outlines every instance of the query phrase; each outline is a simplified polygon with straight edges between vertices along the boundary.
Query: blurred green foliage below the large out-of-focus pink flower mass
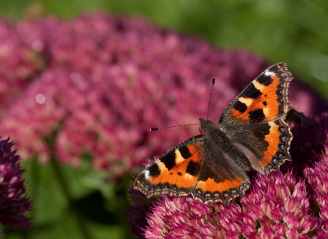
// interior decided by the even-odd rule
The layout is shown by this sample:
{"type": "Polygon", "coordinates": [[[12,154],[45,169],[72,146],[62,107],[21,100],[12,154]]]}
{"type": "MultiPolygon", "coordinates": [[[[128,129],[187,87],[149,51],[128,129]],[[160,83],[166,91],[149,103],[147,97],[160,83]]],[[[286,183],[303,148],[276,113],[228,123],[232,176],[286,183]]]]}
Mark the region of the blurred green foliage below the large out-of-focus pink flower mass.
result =
{"type": "Polygon", "coordinates": [[[90,172],[86,164],[75,169],[29,160],[22,166],[33,201],[27,214],[33,218],[32,229],[5,229],[5,238],[133,238],[126,219],[131,175],[115,184],[105,182],[104,173],[90,172]]]}

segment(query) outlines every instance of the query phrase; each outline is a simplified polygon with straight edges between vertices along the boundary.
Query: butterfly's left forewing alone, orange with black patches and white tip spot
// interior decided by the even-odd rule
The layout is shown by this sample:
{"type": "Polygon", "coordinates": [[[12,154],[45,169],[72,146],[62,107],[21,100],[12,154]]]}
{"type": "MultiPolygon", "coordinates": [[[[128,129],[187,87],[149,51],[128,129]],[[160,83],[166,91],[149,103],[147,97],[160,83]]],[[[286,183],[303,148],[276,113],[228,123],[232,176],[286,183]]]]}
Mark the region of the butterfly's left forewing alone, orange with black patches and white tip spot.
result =
{"type": "Polygon", "coordinates": [[[184,141],[143,170],[134,188],[146,197],[161,195],[183,196],[195,188],[205,160],[204,135],[184,141]]]}

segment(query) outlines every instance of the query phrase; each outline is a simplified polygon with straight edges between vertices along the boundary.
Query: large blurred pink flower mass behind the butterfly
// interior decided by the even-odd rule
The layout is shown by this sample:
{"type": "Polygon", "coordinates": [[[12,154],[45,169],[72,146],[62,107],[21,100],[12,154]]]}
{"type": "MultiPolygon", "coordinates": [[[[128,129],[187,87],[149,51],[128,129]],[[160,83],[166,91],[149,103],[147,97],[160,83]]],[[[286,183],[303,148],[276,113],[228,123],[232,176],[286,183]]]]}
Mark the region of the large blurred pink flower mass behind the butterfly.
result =
{"type": "MultiPolygon", "coordinates": [[[[212,77],[210,119],[217,120],[268,66],[245,51],[215,50],[141,18],[106,14],[0,21],[0,63],[0,132],[23,158],[46,162],[54,153],[75,166],[92,158],[113,175],[197,134],[197,127],[151,135],[149,128],[205,117],[212,77]]],[[[291,88],[300,111],[328,109],[301,83],[291,88]]]]}

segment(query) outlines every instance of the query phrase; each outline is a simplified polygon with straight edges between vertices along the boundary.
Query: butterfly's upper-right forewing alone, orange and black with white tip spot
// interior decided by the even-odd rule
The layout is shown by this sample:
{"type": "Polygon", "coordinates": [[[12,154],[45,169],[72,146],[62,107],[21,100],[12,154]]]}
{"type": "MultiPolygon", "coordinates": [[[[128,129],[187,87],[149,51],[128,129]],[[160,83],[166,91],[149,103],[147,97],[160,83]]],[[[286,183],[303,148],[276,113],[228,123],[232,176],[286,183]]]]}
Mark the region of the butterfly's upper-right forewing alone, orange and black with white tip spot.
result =
{"type": "Polygon", "coordinates": [[[292,80],[285,63],[264,70],[223,112],[219,123],[268,122],[287,113],[288,87],[292,80]]]}

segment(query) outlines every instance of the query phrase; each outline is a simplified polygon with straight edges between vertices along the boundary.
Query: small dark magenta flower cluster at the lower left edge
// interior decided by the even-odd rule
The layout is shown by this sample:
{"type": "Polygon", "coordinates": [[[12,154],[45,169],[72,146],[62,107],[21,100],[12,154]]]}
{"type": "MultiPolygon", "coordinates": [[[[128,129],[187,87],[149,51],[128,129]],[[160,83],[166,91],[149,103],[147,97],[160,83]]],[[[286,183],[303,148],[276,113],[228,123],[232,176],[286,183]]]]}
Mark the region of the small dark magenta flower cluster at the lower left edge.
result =
{"type": "Polygon", "coordinates": [[[31,208],[31,202],[25,195],[20,156],[12,150],[13,144],[9,139],[0,141],[0,225],[27,229],[29,219],[23,214],[31,208]]]}

